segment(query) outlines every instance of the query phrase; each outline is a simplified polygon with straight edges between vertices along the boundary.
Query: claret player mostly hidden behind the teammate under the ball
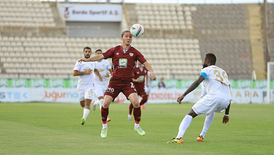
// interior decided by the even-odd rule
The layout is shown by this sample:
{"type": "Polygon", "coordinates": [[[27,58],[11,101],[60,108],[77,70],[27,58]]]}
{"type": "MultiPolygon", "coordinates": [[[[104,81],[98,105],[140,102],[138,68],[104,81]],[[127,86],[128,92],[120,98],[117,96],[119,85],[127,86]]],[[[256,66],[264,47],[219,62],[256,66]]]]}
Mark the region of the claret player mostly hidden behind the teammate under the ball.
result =
{"type": "MultiPolygon", "coordinates": [[[[133,70],[133,73],[135,75],[135,77],[132,78],[133,84],[135,85],[138,95],[142,97],[142,100],[139,103],[139,105],[142,106],[144,105],[145,102],[147,102],[147,93],[144,91],[144,80],[146,81],[145,85],[147,85],[147,81],[148,81],[147,68],[143,67],[142,63],[137,61],[137,66],[133,70]]],[[[130,103],[130,113],[127,116],[127,120],[129,121],[132,120],[132,109],[133,109],[133,105],[132,103],[130,103]]]]}

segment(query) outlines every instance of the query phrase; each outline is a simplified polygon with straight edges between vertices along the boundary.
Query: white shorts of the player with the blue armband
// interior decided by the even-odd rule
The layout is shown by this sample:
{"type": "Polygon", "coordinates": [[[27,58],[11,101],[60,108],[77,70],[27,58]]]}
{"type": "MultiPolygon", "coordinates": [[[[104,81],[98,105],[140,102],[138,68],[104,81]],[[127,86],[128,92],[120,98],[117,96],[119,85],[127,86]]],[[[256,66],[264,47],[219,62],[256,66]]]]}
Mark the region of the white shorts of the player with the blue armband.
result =
{"type": "Polygon", "coordinates": [[[206,100],[201,98],[195,105],[192,107],[196,114],[205,114],[208,116],[212,112],[223,112],[223,109],[226,109],[230,101],[223,100],[222,98],[214,98],[212,100],[206,100]]]}

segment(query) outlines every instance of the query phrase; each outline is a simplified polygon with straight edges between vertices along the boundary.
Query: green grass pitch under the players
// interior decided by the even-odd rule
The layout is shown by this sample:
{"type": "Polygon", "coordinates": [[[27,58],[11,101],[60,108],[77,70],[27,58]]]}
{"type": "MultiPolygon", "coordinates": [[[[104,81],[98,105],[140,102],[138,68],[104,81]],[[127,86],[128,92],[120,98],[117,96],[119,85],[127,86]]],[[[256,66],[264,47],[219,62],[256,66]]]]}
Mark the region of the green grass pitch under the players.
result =
{"type": "Polygon", "coordinates": [[[216,114],[203,142],[204,115],[192,120],[183,144],[167,144],[192,104],[152,104],[142,110],[140,137],[127,104],[112,103],[107,138],[100,110],[80,125],[83,108],[65,103],[0,103],[0,154],[273,154],[274,105],[231,105],[230,121],[216,114]]]}

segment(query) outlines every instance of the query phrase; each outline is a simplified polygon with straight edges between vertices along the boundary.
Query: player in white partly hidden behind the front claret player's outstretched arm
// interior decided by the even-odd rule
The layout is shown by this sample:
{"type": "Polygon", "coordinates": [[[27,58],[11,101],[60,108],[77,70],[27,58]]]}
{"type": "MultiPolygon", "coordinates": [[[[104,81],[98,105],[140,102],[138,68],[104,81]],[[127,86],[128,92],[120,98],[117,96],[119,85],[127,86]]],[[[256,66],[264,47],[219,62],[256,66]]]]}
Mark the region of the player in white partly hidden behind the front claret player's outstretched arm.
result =
{"type": "MultiPolygon", "coordinates": [[[[95,55],[102,54],[102,50],[98,49],[95,51],[95,55]]],[[[104,102],[104,93],[105,90],[107,90],[107,77],[110,77],[112,75],[112,69],[110,63],[103,59],[98,60],[96,63],[96,69],[99,71],[100,75],[102,76],[102,81],[100,81],[99,77],[95,74],[93,74],[94,77],[94,85],[95,85],[95,95],[98,97],[98,100],[96,102],[93,102],[93,110],[96,109],[96,105],[99,105],[100,110],[102,107],[102,103],[104,102]],[[110,72],[110,74],[107,72],[107,70],[110,72]]],[[[107,122],[110,122],[110,118],[107,117],[107,122]]]]}

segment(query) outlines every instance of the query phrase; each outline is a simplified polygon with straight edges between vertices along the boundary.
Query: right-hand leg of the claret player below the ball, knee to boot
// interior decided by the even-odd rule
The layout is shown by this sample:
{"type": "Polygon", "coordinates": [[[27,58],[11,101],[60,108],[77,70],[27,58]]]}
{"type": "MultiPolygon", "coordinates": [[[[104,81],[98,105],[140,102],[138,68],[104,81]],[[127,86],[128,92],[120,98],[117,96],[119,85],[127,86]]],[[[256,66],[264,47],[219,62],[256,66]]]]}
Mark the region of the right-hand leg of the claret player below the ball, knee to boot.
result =
{"type": "Polygon", "coordinates": [[[133,92],[127,97],[130,102],[132,103],[134,109],[133,109],[133,114],[135,117],[135,131],[143,136],[145,134],[144,130],[139,127],[139,122],[141,121],[141,108],[139,107],[139,98],[136,92],[133,92]]]}

